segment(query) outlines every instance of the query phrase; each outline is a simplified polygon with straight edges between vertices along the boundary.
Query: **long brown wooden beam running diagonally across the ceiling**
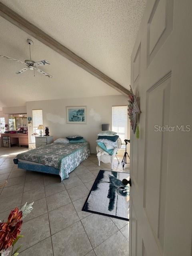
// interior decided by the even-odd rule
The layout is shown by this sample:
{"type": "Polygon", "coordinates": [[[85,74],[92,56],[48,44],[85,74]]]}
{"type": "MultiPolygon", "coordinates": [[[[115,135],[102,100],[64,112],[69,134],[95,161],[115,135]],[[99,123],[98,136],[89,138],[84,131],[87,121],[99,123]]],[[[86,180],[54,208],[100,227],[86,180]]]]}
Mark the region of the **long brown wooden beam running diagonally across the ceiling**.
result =
{"type": "Polygon", "coordinates": [[[124,88],[122,85],[118,84],[116,81],[111,79],[109,76],[106,76],[100,70],[92,66],[86,60],[82,59],[80,56],[66,48],[64,45],[60,44],[54,38],[43,32],[40,28],[34,26],[34,24],[28,22],[28,20],[22,18],[19,14],[14,12],[12,9],[8,8],[2,2],[0,2],[0,16],[16,25],[18,28],[24,30],[29,35],[33,36],[46,46],[50,47],[52,50],[58,52],[68,60],[72,61],[74,64],[80,66],[93,76],[96,76],[104,83],[108,84],[118,92],[129,95],[130,91],[124,88]]]}

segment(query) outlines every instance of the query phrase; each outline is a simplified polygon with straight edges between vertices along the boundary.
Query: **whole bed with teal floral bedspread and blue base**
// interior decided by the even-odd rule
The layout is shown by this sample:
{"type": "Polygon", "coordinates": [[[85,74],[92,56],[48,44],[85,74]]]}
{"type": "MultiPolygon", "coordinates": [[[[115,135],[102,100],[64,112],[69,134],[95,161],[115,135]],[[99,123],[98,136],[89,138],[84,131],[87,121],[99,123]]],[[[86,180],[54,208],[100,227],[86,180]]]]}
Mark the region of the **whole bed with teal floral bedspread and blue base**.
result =
{"type": "Polygon", "coordinates": [[[57,174],[64,180],[83,160],[90,156],[89,143],[51,143],[18,154],[14,164],[18,168],[57,174]]]}

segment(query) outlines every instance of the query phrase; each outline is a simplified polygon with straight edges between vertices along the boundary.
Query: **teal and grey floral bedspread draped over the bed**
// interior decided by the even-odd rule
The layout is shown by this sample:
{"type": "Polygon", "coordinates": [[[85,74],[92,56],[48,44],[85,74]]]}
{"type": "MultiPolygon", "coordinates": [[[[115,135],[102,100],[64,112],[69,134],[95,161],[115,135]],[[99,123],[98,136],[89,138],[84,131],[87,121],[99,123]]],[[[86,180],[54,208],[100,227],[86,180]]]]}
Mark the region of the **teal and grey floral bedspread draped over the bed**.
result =
{"type": "Polygon", "coordinates": [[[52,143],[18,154],[15,159],[23,159],[59,169],[61,180],[69,177],[83,160],[90,156],[89,143],[52,143]]]}

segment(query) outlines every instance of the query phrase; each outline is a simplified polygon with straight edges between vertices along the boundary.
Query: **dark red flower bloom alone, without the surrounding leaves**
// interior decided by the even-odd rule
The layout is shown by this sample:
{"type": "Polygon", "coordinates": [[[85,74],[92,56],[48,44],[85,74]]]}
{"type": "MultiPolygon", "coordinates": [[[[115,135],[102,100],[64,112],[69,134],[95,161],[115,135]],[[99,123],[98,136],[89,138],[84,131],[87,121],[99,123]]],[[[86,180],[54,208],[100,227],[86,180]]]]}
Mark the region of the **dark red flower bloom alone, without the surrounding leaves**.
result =
{"type": "Polygon", "coordinates": [[[10,212],[8,221],[0,223],[0,251],[12,245],[21,232],[22,222],[22,211],[15,208],[10,212]]]}

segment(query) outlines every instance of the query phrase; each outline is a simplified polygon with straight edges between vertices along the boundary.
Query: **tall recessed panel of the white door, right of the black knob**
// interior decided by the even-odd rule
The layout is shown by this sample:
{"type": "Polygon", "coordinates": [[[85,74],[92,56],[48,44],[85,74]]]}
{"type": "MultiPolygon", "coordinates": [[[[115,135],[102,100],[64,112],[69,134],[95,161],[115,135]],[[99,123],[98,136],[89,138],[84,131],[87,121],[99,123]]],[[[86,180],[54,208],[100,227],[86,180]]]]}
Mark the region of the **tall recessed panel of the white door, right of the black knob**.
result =
{"type": "Polygon", "coordinates": [[[161,196],[166,190],[161,176],[162,170],[166,172],[167,168],[167,161],[163,156],[167,156],[168,132],[158,131],[158,126],[169,125],[170,78],[166,77],[168,80],[163,79],[162,83],[161,80],[147,91],[146,99],[144,207],[156,235],[159,229],[159,212],[162,212],[160,200],[164,198],[161,196]]]}

